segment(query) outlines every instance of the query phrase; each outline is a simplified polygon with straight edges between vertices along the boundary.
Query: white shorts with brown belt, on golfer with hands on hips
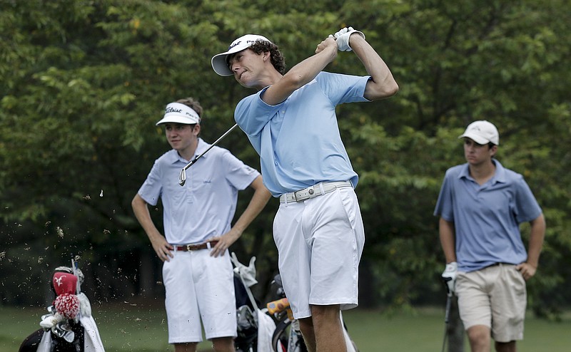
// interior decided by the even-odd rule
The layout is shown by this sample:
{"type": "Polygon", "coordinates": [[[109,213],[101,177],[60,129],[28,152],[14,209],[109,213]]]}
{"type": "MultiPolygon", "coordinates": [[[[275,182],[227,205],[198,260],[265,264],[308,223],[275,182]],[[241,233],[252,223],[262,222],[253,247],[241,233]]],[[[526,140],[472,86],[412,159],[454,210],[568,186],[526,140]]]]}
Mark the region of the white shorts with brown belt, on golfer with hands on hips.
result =
{"type": "Polygon", "coordinates": [[[236,337],[236,296],[228,251],[211,257],[210,249],[175,252],[163,264],[168,343],[236,337]]]}

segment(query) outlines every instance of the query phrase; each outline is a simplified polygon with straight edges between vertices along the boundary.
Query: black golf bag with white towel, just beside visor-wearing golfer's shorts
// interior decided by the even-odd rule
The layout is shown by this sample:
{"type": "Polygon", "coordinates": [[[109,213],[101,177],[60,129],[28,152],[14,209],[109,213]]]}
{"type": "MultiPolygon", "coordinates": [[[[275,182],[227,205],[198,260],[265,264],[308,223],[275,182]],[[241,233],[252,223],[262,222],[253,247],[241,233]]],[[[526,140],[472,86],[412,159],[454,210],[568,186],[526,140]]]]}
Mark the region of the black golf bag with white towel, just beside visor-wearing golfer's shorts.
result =
{"type": "Polygon", "coordinates": [[[257,284],[256,257],[245,266],[238,262],[236,254],[232,253],[234,264],[234,290],[236,291],[236,319],[238,336],[234,340],[238,352],[272,352],[271,338],[276,330],[276,323],[266,314],[267,309],[259,308],[250,289],[257,284]]]}

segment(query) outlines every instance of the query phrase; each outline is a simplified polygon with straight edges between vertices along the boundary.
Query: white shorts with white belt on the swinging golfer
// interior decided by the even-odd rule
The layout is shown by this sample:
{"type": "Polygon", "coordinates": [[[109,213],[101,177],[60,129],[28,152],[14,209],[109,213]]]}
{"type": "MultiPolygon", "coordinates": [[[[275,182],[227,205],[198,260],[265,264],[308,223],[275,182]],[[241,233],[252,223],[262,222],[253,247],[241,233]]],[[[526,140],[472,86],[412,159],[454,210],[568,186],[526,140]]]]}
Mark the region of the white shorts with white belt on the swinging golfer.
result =
{"type": "Polygon", "coordinates": [[[352,187],[303,202],[281,203],[273,222],[283,289],[296,319],[311,305],[358,305],[365,231],[352,187]]]}

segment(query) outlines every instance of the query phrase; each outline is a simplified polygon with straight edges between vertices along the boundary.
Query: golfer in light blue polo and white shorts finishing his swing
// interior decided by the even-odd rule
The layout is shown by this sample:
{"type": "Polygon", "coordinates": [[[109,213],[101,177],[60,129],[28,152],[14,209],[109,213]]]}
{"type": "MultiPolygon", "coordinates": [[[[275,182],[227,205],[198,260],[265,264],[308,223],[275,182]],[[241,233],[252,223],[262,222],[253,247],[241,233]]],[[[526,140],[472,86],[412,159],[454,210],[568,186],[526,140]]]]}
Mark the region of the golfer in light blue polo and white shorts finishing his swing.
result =
{"type": "Polygon", "coordinates": [[[278,265],[305,342],[310,351],[346,351],[340,309],[358,304],[365,235],[353,190],[358,175],[335,106],[388,98],[398,85],[353,28],[325,38],[288,73],[278,47],[256,34],[236,39],[211,62],[219,75],[257,90],[234,117],[261,157],[264,184],[280,198],[273,224],[278,265]],[[338,51],[353,51],[368,76],[324,72],[338,51]]]}

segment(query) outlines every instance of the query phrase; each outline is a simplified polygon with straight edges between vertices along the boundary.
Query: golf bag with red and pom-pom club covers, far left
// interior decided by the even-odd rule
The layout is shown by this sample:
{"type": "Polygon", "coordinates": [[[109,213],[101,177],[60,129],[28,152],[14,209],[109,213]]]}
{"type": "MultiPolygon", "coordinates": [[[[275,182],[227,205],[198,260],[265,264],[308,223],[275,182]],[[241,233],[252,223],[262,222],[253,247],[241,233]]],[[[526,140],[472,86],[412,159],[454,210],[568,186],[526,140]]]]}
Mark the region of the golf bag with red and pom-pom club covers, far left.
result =
{"type": "Polygon", "coordinates": [[[20,345],[19,352],[104,352],[91,304],[81,292],[84,274],[76,262],[59,266],[51,278],[55,299],[41,317],[39,330],[20,345]]]}

